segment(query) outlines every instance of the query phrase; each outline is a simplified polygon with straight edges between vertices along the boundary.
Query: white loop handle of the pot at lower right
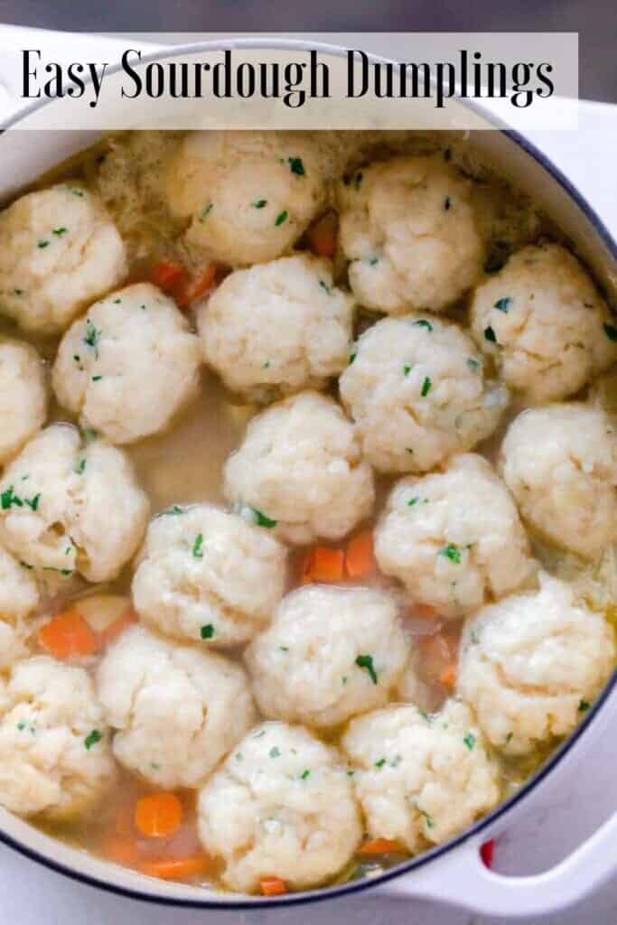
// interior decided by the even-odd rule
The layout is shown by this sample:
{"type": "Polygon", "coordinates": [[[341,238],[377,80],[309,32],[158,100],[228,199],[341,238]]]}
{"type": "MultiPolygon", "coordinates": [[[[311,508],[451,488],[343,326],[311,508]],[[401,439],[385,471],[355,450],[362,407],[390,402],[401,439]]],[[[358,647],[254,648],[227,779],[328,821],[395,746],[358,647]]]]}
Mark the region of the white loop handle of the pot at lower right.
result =
{"type": "Polygon", "coordinates": [[[488,870],[477,837],[381,888],[392,898],[433,899],[485,916],[539,917],[573,906],[617,871],[617,813],[550,870],[509,877],[488,870]]]}

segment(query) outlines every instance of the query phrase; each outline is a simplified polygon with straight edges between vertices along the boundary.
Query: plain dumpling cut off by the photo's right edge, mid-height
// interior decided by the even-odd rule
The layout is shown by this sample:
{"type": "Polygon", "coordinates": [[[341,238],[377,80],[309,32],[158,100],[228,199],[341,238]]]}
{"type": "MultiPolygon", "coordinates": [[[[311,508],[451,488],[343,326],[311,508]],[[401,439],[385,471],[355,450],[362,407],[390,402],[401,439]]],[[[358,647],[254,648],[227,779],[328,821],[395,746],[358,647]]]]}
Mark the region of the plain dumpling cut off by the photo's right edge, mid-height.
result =
{"type": "Polygon", "coordinates": [[[601,409],[573,402],[524,411],[500,467],[524,520],[549,542],[594,558],[617,536],[617,437],[601,409]]]}

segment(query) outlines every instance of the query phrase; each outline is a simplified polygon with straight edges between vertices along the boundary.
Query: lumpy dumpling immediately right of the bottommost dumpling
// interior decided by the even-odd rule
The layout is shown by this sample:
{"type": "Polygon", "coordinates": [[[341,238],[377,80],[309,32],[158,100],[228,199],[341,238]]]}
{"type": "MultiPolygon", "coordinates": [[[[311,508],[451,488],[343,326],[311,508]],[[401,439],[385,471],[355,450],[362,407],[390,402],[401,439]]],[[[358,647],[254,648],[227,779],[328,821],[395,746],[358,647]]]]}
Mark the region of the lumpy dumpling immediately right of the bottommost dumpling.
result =
{"type": "Polygon", "coordinates": [[[411,704],[367,713],[341,745],[370,836],[413,853],[445,842],[500,799],[498,769],[472,711],[456,700],[431,715],[411,704]]]}

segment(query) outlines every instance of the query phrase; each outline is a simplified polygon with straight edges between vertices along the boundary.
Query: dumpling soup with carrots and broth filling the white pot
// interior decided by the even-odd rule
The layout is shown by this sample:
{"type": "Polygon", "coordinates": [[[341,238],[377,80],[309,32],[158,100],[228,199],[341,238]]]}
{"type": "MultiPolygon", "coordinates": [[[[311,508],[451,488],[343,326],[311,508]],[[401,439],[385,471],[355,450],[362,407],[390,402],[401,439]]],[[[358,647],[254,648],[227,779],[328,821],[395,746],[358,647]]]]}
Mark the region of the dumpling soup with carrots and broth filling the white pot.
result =
{"type": "Polygon", "coordinates": [[[0,213],[0,313],[0,805],[274,896],[447,841],[585,716],[617,320],[462,140],[110,137],[0,213]]]}

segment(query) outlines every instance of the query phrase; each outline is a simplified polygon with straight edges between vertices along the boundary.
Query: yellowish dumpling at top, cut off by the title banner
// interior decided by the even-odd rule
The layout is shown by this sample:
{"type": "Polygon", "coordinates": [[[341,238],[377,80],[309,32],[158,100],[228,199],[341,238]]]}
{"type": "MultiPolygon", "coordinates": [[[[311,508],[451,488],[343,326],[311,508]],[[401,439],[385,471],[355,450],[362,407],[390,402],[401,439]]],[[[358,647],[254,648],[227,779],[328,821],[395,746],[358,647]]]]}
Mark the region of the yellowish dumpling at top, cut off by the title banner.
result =
{"type": "Polygon", "coordinates": [[[274,260],[324,203],[325,165],[300,132],[193,131],[167,171],[191,250],[231,266],[274,260]]]}

